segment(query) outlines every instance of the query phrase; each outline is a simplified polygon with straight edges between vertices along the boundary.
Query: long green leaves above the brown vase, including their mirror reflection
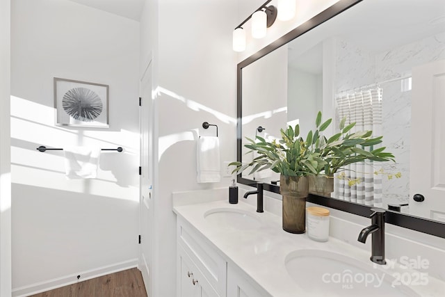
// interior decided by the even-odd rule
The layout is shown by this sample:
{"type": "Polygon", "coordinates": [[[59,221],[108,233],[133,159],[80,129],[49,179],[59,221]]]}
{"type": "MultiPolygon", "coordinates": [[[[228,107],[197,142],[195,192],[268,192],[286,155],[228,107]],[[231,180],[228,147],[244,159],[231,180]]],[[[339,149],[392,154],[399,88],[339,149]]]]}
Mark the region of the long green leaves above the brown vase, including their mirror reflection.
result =
{"type": "Polygon", "coordinates": [[[300,126],[281,129],[281,136],[276,140],[266,141],[257,136],[256,140],[246,138],[244,145],[258,156],[249,163],[232,162],[236,166],[233,172],[243,172],[251,168],[250,174],[270,168],[284,176],[307,176],[325,174],[334,175],[343,166],[365,160],[394,161],[393,154],[385,152],[385,147],[371,151],[364,150],[382,143],[382,136],[372,138],[372,131],[350,133],[355,123],[345,127],[346,118],[340,122],[340,132],[326,138],[322,132],[329,127],[332,119],[321,123],[321,112],[316,117],[315,131],[309,131],[306,139],[300,136],[300,126]]]}

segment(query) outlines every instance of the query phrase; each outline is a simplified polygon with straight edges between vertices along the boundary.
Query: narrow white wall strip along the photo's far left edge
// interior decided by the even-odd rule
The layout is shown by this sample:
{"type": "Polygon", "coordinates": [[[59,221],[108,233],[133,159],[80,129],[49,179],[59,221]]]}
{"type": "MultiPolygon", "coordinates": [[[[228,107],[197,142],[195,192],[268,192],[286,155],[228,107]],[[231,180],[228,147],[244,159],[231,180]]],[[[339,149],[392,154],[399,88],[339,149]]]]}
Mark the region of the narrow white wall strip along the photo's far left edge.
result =
{"type": "Polygon", "coordinates": [[[11,295],[10,0],[0,0],[0,296],[11,295]]]}

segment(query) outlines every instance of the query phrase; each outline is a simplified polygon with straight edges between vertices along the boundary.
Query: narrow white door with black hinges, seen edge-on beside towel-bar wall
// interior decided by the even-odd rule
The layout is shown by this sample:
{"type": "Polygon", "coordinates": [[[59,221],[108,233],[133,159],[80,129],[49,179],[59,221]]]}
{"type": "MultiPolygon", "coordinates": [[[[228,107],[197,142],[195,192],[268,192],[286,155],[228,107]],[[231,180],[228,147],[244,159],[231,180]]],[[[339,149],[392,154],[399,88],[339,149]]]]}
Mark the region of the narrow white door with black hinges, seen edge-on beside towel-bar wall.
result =
{"type": "Polygon", "coordinates": [[[153,292],[154,203],[153,177],[153,111],[152,111],[152,61],[140,79],[140,252],[139,267],[147,295],[153,292]]]}

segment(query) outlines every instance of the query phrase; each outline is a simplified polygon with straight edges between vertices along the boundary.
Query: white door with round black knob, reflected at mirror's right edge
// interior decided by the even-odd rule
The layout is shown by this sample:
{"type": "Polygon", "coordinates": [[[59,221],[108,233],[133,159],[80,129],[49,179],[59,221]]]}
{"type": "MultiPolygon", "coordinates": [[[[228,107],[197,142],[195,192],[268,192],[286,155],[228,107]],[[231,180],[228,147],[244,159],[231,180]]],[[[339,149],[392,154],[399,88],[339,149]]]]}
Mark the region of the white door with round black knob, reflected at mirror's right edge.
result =
{"type": "Polygon", "coordinates": [[[444,115],[445,60],[413,68],[410,214],[445,222],[444,115]]]}

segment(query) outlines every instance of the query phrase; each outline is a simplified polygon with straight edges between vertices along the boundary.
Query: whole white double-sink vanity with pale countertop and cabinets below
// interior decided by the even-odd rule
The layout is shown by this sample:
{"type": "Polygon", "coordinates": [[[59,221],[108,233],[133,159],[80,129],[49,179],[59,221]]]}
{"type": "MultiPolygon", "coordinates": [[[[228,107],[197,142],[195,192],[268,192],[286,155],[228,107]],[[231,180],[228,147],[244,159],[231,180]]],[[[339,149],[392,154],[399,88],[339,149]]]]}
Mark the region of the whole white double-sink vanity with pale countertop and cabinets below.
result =
{"type": "Polygon", "coordinates": [[[332,236],[322,243],[290,234],[282,230],[279,215],[267,209],[259,214],[243,200],[229,204],[216,195],[207,197],[209,202],[185,197],[190,193],[174,198],[181,201],[174,206],[178,297],[443,294],[445,282],[428,271],[391,259],[373,264],[369,245],[362,249],[332,236]]]}

